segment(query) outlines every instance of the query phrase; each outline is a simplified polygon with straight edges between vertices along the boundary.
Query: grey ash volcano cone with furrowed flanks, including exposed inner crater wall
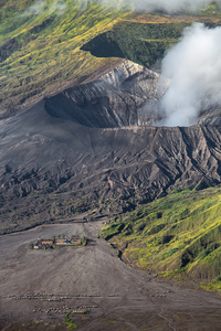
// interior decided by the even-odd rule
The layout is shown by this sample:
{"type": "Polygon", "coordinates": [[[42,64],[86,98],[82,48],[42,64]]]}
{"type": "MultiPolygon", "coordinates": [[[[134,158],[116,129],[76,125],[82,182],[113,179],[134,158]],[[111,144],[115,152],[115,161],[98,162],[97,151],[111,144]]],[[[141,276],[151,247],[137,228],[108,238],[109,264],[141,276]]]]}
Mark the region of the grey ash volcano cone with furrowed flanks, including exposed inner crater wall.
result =
{"type": "Polygon", "coordinates": [[[154,120],[141,110],[155,100],[157,79],[125,62],[94,85],[1,120],[1,233],[87,211],[125,212],[173,188],[220,183],[219,127],[137,126],[154,120]]]}

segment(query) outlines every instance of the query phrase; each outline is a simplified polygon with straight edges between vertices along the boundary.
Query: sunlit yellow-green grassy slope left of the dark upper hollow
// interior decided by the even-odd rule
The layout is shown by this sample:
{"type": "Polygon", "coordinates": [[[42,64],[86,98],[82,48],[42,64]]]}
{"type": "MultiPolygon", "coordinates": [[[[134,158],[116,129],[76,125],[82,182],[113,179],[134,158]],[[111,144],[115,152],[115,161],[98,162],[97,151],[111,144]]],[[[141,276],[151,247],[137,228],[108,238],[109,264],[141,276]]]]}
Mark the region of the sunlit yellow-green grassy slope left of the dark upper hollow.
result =
{"type": "MultiPolygon", "coordinates": [[[[66,2],[69,10],[63,13],[51,10],[49,4],[49,9],[39,14],[22,15],[14,14],[15,7],[10,18],[3,19],[0,26],[0,44],[3,44],[0,99],[3,102],[14,97],[17,106],[45,88],[50,90],[56,83],[59,89],[63,82],[81,82],[85,75],[112,62],[94,58],[80,47],[101,31],[112,29],[124,13],[96,4],[80,9],[76,1],[66,2]],[[6,42],[9,40],[12,42],[6,42]]],[[[2,8],[1,12],[8,11],[2,8]]],[[[6,106],[13,107],[13,104],[10,99],[6,106]]]]}

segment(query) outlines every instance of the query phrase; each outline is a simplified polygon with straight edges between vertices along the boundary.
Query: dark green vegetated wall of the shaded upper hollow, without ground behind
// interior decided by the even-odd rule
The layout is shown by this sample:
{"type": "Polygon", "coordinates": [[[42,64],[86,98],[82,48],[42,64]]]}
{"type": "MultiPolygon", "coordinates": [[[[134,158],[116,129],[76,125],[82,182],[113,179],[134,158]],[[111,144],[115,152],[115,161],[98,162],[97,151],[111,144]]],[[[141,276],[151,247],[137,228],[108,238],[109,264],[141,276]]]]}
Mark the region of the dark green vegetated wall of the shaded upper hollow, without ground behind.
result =
{"type": "Polygon", "coordinates": [[[112,31],[99,34],[82,50],[98,57],[124,57],[145,66],[161,58],[189,23],[118,22],[112,31]]]}

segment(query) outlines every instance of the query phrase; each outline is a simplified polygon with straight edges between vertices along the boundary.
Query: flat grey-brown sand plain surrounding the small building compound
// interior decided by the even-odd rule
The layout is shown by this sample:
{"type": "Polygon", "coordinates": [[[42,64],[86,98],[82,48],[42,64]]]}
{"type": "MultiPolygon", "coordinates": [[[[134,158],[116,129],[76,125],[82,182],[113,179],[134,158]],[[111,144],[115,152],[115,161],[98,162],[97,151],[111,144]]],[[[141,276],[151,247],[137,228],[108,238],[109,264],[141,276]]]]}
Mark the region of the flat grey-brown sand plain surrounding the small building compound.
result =
{"type": "Polygon", "coordinates": [[[220,330],[221,297],[180,288],[134,270],[117,258],[108,243],[97,238],[101,226],[102,222],[43,225],[0,237],[0,292],[7,297],[0,298],[2,330],[19,320],[49,323],[49,316],[53,323],[61,323],[64,307],[81,306],[95,307],[87,323],[80,322],[82,331],[220,330]],[[54,235],[85,235],[90,243],[80,248],[29,249],[30,242],[54,235]],[[9,298],[28,292],[69,298],[61,302],[9,298]],[[61,316],[53,309],[61,310],[61,316]],[[211,323],[213,329],[204,329],[211,323]]]}

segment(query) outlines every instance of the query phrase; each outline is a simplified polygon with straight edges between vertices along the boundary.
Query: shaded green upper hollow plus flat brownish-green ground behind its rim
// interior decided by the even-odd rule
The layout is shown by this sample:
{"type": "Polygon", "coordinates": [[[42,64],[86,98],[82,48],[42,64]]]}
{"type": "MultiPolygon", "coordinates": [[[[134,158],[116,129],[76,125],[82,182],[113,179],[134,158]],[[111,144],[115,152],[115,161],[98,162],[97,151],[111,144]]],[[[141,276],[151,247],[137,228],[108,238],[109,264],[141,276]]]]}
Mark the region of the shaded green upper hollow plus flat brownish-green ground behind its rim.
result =
{"type": "Polygon", "coordinates": [[[110,31],[99,34],[83,46],[98,57],[119,56],[144,66],[155,65],[167,49],[177,42],[186,26],[194,21],[209,26],[221,25],[221,13],[211,6],[198,15],[167,15],[131,12],[110,31]]]}

